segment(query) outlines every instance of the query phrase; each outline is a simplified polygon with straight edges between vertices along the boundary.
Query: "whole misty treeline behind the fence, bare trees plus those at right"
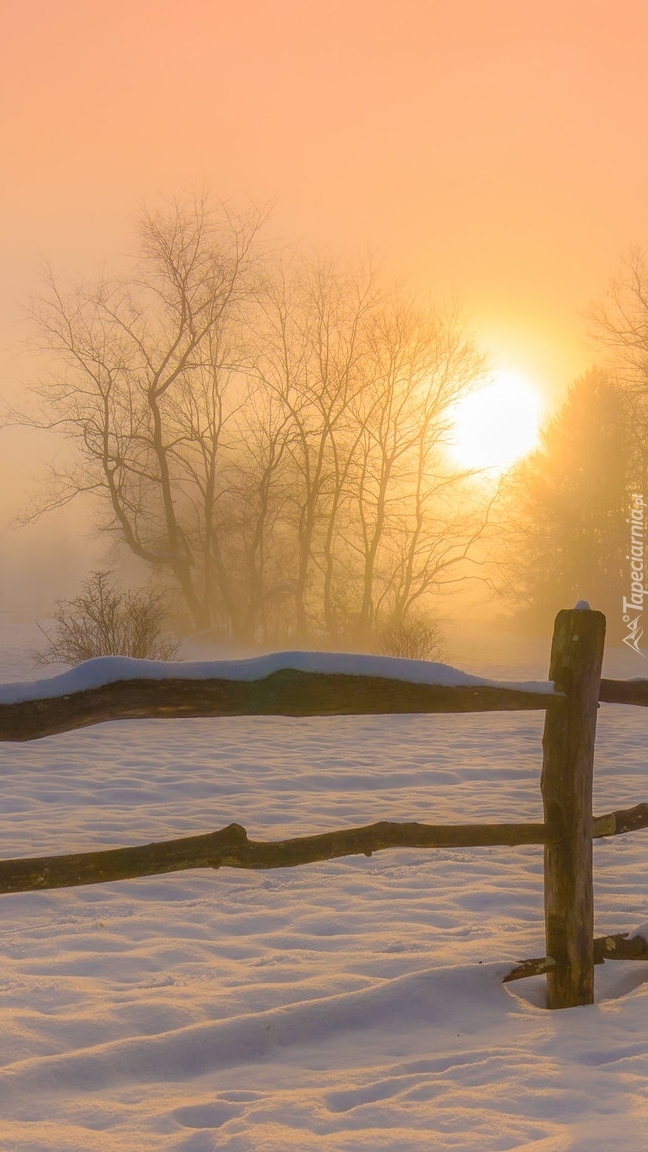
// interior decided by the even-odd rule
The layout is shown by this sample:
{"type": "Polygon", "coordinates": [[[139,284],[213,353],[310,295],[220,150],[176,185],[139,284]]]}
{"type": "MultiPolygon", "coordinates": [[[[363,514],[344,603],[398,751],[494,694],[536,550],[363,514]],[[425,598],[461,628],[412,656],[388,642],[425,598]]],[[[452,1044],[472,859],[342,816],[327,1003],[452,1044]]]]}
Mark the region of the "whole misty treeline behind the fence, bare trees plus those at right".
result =
{"type": "Polygon", "coordinates": [[[187,629],[247,643],[430,654],[440,593],[474,573],[533,627],[587,598],[619,639],[631,499],[648,495],[642,255],[590,312],[602,366],[495,499],[449,453],[487,377],[458,310],[370,263],[270,251],[264,225],[178,205],[142,217],[128,275],[46,275],[47,377],[22,418],[69,450],[33,515],[90,497],[187,629]]]}

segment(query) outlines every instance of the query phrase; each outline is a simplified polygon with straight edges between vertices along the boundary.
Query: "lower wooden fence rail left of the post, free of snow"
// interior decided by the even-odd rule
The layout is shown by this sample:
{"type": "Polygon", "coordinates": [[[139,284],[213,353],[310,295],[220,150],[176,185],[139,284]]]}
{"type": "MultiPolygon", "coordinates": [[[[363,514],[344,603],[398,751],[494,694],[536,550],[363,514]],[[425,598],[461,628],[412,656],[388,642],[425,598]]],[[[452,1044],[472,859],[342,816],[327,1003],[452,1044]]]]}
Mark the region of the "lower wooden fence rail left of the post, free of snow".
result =
{"type": "Polygon", "coordinates": [[[129,880],[197,867],[295,867],[342,856],[371,856],[386,848],[482,848],[544,844],[544,824],[395,824],[383,820],[359,828],[324,832],[270,843],[248,840],[240,824],[219,832],[131,848],[0,861],[0,894],[42,892],[110,880],[129,880]]]}

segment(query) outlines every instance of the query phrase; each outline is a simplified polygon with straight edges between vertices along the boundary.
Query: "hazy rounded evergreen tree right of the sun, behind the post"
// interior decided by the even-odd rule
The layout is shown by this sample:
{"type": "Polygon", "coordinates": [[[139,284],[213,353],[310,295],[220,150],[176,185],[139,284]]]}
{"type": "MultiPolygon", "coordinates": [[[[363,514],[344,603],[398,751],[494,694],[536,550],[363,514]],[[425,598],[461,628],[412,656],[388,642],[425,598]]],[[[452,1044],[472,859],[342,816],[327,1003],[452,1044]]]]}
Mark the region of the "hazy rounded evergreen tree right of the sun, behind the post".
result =
{"type": "Polygon", "coordinates": [[[593,369],[508,480],[502,571],[528,623],[545,628],[585,598],[619,642],[632,473],[632,399],[593,369]]]}

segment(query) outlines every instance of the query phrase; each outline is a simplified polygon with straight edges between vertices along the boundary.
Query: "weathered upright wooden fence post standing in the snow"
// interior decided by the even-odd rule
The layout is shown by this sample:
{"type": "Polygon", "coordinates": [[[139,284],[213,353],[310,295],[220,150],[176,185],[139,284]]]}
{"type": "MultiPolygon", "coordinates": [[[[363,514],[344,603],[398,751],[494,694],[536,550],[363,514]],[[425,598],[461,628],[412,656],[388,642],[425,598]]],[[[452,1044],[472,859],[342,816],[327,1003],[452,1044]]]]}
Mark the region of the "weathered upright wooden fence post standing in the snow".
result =
{"type": "Polygon", "coordinates": [[[594,1002],[592,780],[605,616],[589,606],[559,612],[549,679],[566,699],[547,708],[542,799],[559,839],[544,849],[549,1008],[594,1002]]]}

